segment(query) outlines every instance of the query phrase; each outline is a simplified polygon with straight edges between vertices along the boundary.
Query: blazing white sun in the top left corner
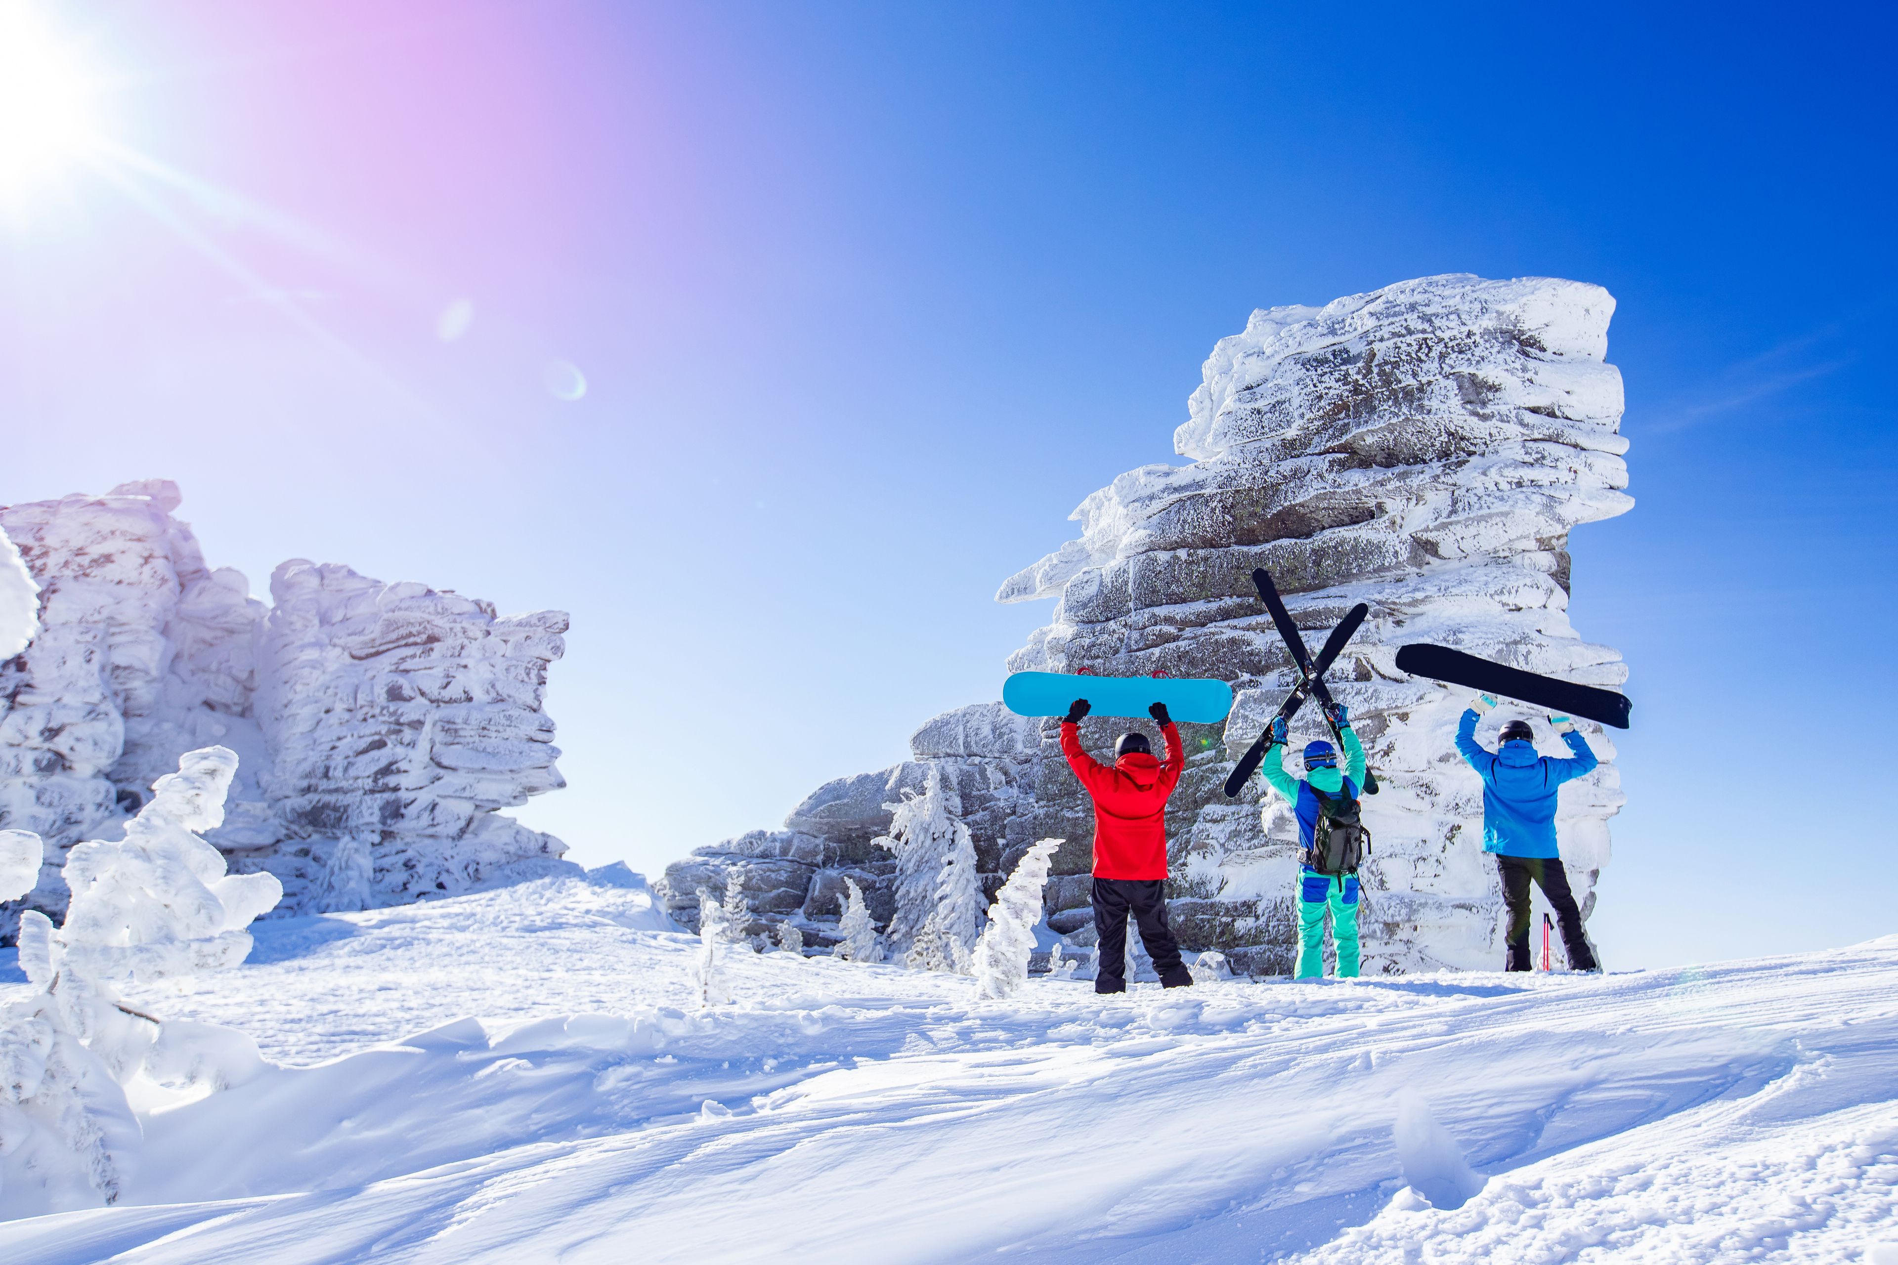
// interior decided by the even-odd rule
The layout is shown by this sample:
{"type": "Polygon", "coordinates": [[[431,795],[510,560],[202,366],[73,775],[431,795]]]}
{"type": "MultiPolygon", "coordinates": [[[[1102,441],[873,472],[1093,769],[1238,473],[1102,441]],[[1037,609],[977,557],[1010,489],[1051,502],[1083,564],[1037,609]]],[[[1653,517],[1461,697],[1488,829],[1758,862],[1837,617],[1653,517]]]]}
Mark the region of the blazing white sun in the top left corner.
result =
{"type": "Polygon", "coordinates": [[[95,80],[27,4],[0,0],[0,199],[57,176],[95,144],[95,80]]]}

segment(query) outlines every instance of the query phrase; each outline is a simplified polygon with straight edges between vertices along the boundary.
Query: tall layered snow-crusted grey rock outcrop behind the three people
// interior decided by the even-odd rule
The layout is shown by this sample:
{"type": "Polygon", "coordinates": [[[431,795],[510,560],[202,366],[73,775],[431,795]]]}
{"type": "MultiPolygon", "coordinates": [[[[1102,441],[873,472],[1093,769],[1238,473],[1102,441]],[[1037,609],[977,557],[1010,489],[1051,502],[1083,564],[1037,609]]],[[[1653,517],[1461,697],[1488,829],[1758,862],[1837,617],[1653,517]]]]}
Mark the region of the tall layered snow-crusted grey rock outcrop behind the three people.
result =
{"type": "MultiPolygon", "coordinates": [[[[1568,620],[1570,529],[1632,506],[1621,376],[1604,360],[1611,315],[1600,286],[1469,275],[1256,311],[1213,349],[1175,431],[1190,465],[1122,474],[1074,512],[1078,541],[1002,584],[1000,601],[1057,599],[1012,671],[1165,671],[1239,690],[1224,726],[1182,726],[1188,772],[1167,823],[1171,912],[1188,948],[1224,950],[1253,973],[1283,973],[1293,956],[1296,827],[1256,779],[1237,800],[1220,795],[1293,681],[1249,580],[1264,565],[1308,639],[1351,603],[1370,605],[1332,668],[1384,781],[1367,798],[1365,969],[1494,967],[1501,895],[1480,852],[1480,783],[1450,742],[1463,698],[1405,677],[1393,656],[1439,641],[1591,685],[1625,681],[1621,656],[1568,620]]],[[[1494,742],[1499,723],[1480,736],[1494,742]]],[[[1089,721],[1084,738],[1101,749],[1120,724],[1089,721]]],[[[1317,736],[1319,723],[1308,713],[1300,728],[1317,736]]],[[[1587,912],[1623,797],[1613,743],[1583,728],[1602,766],[1562,793],[1558,833],[1587,912]]],[[[782,833],[700,848],[666,872],[668,908],[691,924],[695,888],[736,867],[759,922],[799,920],[818,943],[843,872],[886,910],[888,861],[848,850],[888,823],[881,802],[940,764],[991,889],[1029,840],[1069,840],[1048,922],[1091,941],[1093,827],[1055,723],[979,704],[926,723],[911,753],[822,787],[782,833]]]]}

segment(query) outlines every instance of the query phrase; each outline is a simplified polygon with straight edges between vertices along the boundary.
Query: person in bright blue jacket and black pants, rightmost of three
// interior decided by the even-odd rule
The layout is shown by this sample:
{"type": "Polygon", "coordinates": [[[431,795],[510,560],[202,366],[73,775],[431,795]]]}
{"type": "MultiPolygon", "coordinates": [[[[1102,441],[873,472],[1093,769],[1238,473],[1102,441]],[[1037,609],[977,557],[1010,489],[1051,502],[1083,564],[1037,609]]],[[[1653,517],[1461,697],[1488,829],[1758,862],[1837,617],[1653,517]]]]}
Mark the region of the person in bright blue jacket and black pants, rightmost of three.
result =
{"type": "Polygon", "coordinates": [[[1509,907],[1509,958],[1505,971],[1530,969],[1530,882],[1543,889],[1562,929],[1568,965],[1575,971],[1600,969],[1589,937],[1581,931],[1581,910],[1568,888],[1568,871],[1554,846],[1556,791],[1564,781],[1583,778],[1600,761],[1589,742],[1575,732],[1575,723],[1564,715],[1549,717],[1575,755],[1554,759],[1535,755],[1535,730],[1528,721],[1503,726],[1501,747],[1484,749],[1477,742],[1477,721],[1496,707],[1496,698],[1479,694],[1463,711],[1456,730],[1456,749],[1482,778],[1482,850],[1496,853],[1496,869],[1503,876],[1503,903],[1509,907]]]}

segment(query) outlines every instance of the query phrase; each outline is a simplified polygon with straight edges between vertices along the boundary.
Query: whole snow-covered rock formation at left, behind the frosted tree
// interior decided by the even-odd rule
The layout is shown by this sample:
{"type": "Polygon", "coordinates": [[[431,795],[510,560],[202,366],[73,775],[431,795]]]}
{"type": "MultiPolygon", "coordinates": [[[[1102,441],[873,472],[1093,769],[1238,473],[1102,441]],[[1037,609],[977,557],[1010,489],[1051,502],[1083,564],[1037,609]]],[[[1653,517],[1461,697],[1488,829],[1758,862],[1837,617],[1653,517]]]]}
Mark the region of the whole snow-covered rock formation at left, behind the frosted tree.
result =
{"type": "MultiPolygon", "coordinates": [[[[562,783],[541,711],[566,614],[501,618],[421,584],[288,561],[275,605],[211,569],[167,480],[0,508],[0,827],[46,840],[25,907],[61,914],[61,867],[110,836],[178,757],[241,757],[209,838],[268,871],[287,912],[364,908],[566,869],[497,810],[562,783]],[[23,588],[25,586],[25,588],[23,588]]],[[[11,937],[19,907],[0,907],[11,937]]]]}

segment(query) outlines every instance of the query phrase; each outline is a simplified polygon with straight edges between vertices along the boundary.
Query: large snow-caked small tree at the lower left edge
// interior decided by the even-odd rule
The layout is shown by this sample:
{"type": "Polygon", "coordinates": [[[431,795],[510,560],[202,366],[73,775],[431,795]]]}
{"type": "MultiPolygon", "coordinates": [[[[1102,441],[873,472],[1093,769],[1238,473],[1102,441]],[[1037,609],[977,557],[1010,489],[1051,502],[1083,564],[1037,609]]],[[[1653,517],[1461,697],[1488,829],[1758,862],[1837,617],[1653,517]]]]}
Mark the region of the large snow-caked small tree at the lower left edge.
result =
{"type": "Polygon", "coordinates": [[[199,838],[224,821],[235,772],[226,747],[184,755],[121,842],[66,853],[72,903],[57,931],[46,914],[21,916],[34,992],[0,1007],[0,1182],[13,1210],[118,1202],[140,1149],[123,1083],[140,1072],[218,1089],[262,1066],[239,1032],[161,1026],[120,999],[125,984],[237,965],[245,927],[283,897],[271,874],[226,874],[199,838]]]}

